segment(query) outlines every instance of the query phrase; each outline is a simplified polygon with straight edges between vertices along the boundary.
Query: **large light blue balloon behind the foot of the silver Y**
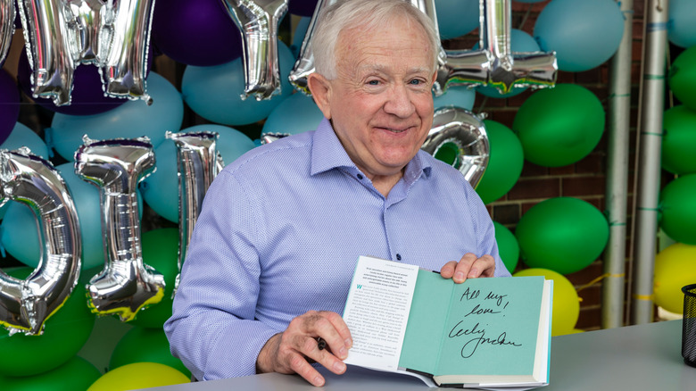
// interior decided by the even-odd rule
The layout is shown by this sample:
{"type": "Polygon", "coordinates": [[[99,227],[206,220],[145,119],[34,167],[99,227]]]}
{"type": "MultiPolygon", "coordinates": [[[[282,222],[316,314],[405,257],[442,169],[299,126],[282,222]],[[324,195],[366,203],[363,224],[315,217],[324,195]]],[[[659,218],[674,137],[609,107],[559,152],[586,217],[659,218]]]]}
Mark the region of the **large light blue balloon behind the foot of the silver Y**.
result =
{"type": "Polygon", "coordinates": [[[294,91],[287,80],[294,66],[294,56],[290,48],[281,41],[278,41],[278,62],[280,96],[261,101],[257,101],[254,96],[242,99],[242,58],[216,66],[186,66],[181,80],[181,93],[191,110],[208,121],[224,125],[248,125],[261,121],[294,91]]]}

